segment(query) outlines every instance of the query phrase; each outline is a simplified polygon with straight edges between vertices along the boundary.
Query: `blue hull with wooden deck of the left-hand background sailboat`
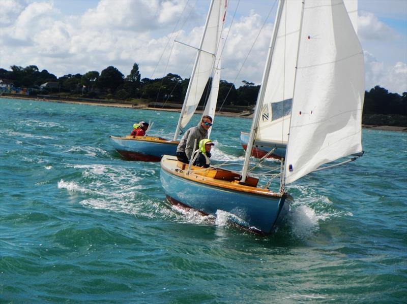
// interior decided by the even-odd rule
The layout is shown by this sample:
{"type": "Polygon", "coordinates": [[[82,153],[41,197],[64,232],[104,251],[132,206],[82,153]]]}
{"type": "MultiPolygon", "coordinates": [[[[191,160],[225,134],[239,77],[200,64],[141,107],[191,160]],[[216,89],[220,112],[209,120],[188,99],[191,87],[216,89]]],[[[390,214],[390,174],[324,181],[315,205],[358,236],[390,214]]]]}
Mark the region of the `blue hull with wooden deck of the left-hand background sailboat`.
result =
{"type": "Polygon", "coordinates": [[[129,160],[160,161],[164,154],[176,155],[179,142],[156,137],[110,136],[115,150],[129,160]]]}

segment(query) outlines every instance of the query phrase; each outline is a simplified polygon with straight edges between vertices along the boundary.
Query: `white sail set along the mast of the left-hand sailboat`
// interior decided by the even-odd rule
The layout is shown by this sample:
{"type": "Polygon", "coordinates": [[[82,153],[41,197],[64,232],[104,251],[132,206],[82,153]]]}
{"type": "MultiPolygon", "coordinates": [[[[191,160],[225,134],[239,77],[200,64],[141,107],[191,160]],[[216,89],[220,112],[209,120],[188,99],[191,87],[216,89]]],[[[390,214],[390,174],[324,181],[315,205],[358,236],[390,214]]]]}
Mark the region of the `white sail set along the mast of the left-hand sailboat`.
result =
{"type": "Polygon", "coordinates": [[[196,55],[194,69],[185,96],[185,105],[180,118],[181,128],[188,124],[194,114],[208,79],[212,75],[225,12],[226,0],[214,0],[208,13],[206,28],[203,32],[201,46],[196,55]]]}

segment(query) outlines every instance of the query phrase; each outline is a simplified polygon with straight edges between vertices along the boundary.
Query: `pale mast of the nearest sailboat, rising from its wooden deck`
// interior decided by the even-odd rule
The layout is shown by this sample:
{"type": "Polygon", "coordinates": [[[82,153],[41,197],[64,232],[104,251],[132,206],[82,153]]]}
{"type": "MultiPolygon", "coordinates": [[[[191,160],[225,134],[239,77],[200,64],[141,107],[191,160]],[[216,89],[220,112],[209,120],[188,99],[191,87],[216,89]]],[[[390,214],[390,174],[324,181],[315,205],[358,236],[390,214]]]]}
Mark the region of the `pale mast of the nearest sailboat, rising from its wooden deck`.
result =
{"type": "Polygon", "coordinates": [[[254,111],[253,121],[251,124],[249,142],[247,143],[247,148],[246,148],[246,153],[245,153],[245,160],[244,160],[243,168],[242,168],[242,179],[241,179],[242,183],[244,183],[246,181],[246,177],[247,177],[247,170],[249,168],[250,156],[252,153],[253,144],[254,144],[254,141],[256,138],[256,133],[257,133],[257,128],[258,128],[258,120],[260,119],[260,111],[261,111],[261,108],[263,107],[264,95],[266,93],[265,84],[267,83],[267,80],[270,75],[271,60],[273,57],[274,46],[275,46],[276,39],[277,39],[277,32],[278,32],[278,27],[280,25],[280,20],[281,20],[284,3],[285,3],[285,0],[280,0],[278,3],[277,15],[276,15],[276,20],[274,22],[274,28],[273,28],[273,36],[271,39],[269,52],[267,54],[266,67],[265,67],[265,70],[263,73],[263,78],[261,79],[260,91],[257,95],[256,108],[254,111]]]}

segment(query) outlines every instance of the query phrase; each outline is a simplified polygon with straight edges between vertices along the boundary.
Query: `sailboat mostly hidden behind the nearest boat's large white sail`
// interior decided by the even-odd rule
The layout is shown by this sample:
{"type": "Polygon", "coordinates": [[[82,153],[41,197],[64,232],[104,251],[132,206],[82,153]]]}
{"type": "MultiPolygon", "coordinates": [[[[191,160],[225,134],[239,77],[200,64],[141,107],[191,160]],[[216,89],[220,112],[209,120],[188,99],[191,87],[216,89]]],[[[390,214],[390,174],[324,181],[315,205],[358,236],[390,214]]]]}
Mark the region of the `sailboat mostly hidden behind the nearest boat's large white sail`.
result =
{"type": "MultiPolygon", "coordinates": [[[[358,0],[343,0],[343,4],[357,33],[358,0]]],[[[278,56],[284,62],[284,65],[275,62],[273,75],[270,76],[270,81],[274,85],[269,88],[272,92],[267,94],[263,104],[256,141],[252,146],[252,156],[256,158],[281,159],[285,157],[295,76],[289,71],[295,69],[299,42],[298,35],[301,26],[298,11],[296,15],[287,16],[286,24],[290,28],[286,30],[286,35],[281,33],[284,35],[284,41],[277,43],[274,51],[275,56],[278,56]],[[281,100],[281,96],[284,96],[285,99],[281,100]]],[[[240,142],[244,150],[247,149],[249,137],[250,133],[240,132],[240,142]]]]}

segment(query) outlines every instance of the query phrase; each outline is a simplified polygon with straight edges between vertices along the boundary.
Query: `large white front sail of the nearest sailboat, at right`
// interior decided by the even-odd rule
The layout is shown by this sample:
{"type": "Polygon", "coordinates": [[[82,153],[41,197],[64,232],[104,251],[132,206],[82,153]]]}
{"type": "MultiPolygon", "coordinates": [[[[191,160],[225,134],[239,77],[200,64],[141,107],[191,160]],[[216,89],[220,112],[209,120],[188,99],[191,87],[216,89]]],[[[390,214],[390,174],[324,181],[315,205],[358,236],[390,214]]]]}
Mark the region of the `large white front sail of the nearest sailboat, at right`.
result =
{"type": "Polygon", "coordinates": [[[306,0],[285,183],[362,151],[363,51],[342,0],[306,0]]]}

